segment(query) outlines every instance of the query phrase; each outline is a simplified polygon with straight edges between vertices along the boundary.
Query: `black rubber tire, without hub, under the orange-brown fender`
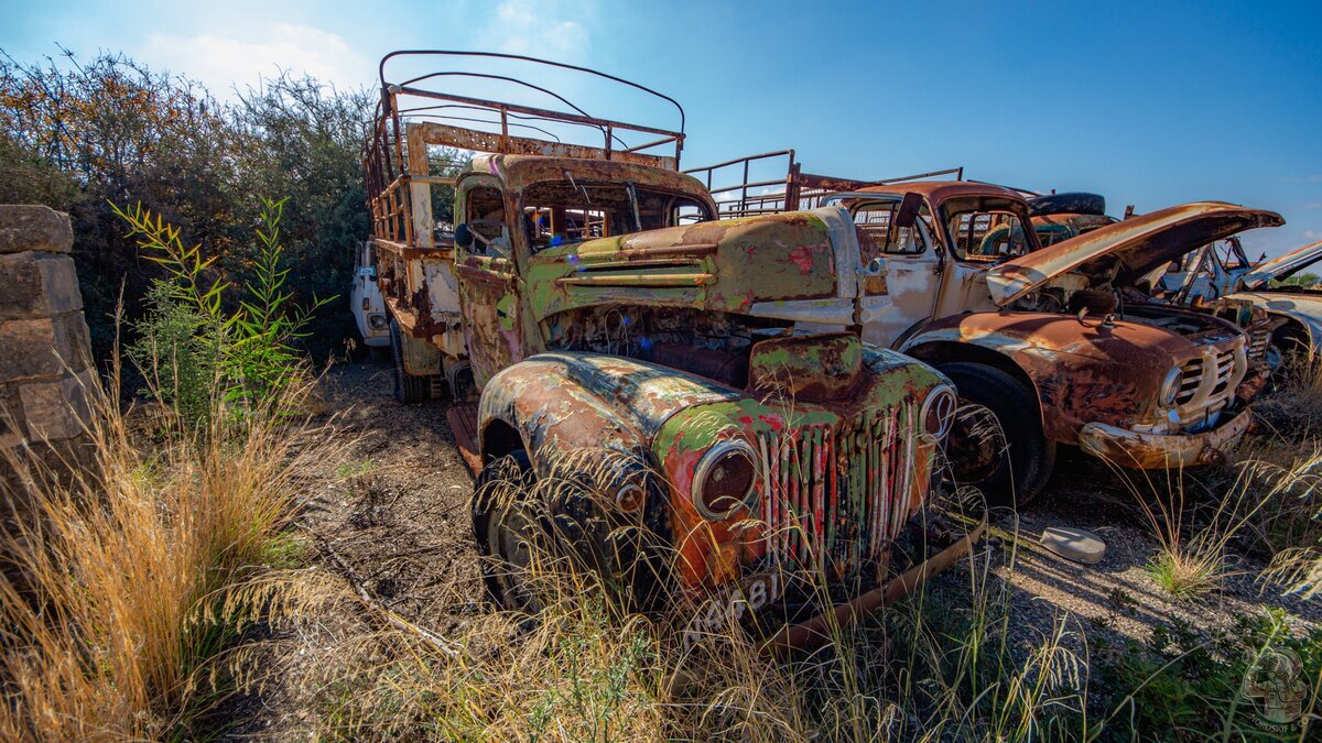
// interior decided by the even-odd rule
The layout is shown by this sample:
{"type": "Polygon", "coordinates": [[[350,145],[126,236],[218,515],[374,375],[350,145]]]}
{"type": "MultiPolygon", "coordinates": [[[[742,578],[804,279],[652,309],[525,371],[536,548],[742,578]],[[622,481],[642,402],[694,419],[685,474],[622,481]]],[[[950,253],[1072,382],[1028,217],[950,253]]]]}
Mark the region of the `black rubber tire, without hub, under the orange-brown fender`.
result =
{"type": "Polygon", "coordinates": [[[1022,382],[1005,372],[957,361],[937,366],[954,382],[960,401],[981,405],[995,415],[1005,432],[1007,461],[974,485],[988,505],[1022,508],[1036,498],[1056,463],[1056,444],[1042,434],[1038,399],[1022,382]],[[1009,465],[1006,465],[1009,464],[1009,465]]]}

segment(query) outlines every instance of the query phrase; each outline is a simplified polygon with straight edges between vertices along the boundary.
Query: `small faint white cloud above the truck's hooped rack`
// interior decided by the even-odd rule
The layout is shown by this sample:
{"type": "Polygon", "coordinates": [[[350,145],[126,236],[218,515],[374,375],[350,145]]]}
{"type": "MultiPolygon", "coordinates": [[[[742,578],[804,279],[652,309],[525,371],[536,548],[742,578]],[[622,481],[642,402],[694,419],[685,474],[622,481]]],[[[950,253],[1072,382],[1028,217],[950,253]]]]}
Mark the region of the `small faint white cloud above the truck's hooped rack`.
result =
{"type": "Polygon", "coordinates": [[[557,62],[584,62],[590,34],[583,19],[595,16],[591,1],[505,0],[480,34],[489,49],[557,62]]]}

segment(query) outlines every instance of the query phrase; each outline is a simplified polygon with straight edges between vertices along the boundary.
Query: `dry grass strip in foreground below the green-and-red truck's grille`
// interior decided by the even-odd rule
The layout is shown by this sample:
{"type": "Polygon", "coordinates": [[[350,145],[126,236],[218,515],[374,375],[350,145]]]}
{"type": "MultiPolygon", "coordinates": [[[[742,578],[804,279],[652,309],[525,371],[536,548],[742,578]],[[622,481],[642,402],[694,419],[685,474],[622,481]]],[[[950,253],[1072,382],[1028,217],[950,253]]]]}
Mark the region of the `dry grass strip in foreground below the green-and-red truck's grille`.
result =
{"type": "MultiPolygon", "coordinates": [[[[533,489],[574,490],[567,465],[533,489]]],[[[512,494],[512,493],[510,493],[512,494]]],[[[620,538],[629,542],[632,538],[620,538]]],[[[542,611],[480,616],[438,641],[407,627],[349,633],[305,680],[340,739],[884,740],[1084,738],[1087,658],[1064,620],[1011,641],[1010,587],[976,553],[966,583],[920,590],[821,649],[779,661],[731,624],[686,641],[699,607],[621,611],[583,561],[538,543],[542,611]]],[[[282,672],[276,672],[282,673],[282,672]]]]}

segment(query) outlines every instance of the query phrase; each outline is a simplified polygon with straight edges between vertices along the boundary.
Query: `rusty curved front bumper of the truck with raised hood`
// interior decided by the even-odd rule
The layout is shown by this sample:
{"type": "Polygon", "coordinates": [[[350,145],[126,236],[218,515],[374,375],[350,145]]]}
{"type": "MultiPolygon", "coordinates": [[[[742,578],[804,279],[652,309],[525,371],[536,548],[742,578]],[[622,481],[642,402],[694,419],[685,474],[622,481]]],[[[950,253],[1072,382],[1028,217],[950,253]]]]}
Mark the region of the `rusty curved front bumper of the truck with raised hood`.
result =
{"type": "Polygon", "coordinates": [[[1147,434],[1105,423],[1088,423],[1079,431],[1083,451],[1137,469],[1174,469],[1219,461],[1253,422],[1251,410],[1202,434],[1147,434]]]}

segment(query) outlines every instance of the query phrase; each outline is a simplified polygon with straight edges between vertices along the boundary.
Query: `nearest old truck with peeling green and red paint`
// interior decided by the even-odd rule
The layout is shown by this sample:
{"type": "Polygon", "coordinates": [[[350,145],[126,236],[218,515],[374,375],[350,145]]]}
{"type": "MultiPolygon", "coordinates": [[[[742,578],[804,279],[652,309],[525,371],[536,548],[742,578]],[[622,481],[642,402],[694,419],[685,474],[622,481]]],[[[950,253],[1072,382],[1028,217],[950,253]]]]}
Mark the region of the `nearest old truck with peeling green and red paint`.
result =
{"type": "MultiPolygon", "coordinates": [[[[480,472],[475,534],[494,596],[533,606],[510,566],[538,539],[625,576],[636,595],[656,578],[637,565],[664,563],[662,580],[706,598],[699,631],[772,607],[830,608],[806,600],[813,579],[842,606],[894,596],[888,550],[936,481],[953,389],[857,333],[796,333],[754,312],[837,293],[830,219],[842,210],[714,221],[710,193],[676,169],[682,116],[676,131],[639,127],[420,91],[382,73],[377,131],[366,171],[374,239],[390,256],[379,263],[394,262],[381,276],[390,309],[480,390],[476,409],[455,406],[449,419],[480,472]],[[467,120],[493,111],[500,134],[410,122],[405,95],[430,100],[419,111],[457,99],[467,120]],[[509,135],[526,120],[516,114],[586,126],[603,145],[509,135]],[[653,139],[621,144],[631,132],[653,139]],[[485,152],[447,181],[456,226],[444,247],[427,239],[438,181],[423,173],[426,144],[485,152]],[[657,147],[670,152],[648,153],[657,147]],[[497,502],[484,493],[510,463],[572,481],[575,494],[538,516],[497,502]],[[621,546],[619,534],[641,531],[662,538],[665,559],[621,546]]],[[[772,645],[806,641],[812,627],[772,645]]]]}

